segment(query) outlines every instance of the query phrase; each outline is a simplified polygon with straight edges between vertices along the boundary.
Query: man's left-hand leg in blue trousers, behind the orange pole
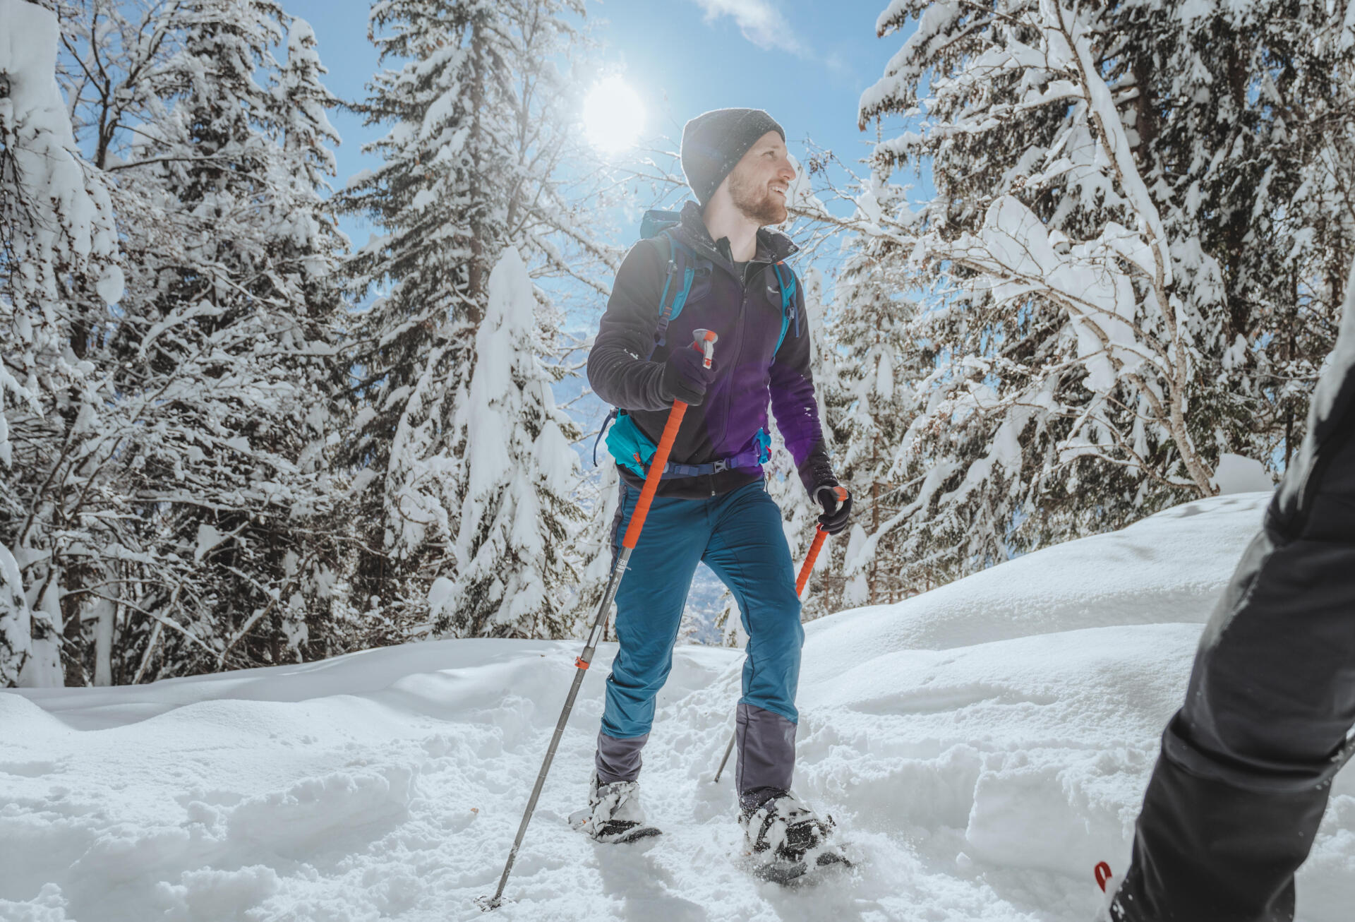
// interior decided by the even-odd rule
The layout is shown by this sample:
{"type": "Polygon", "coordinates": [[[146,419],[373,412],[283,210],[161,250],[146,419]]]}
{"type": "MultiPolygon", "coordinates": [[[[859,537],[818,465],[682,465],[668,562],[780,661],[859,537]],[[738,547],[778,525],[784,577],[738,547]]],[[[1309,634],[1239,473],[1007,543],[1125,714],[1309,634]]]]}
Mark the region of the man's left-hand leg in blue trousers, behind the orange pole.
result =
{"type": "MultiPolygon", "coordinates": [[[[640,491],[622,484],[612,549],[635,508],[640,491]]],[[[654,720],[654,696],[672,670],[673,643],[682,625],[691,578],[710,534],[699,499],[656,498],[630,564],[617,590],[619,649],[607,677],[607,704],[598,735],[598,781],[634,781],[640,751],[654,720]]]]}

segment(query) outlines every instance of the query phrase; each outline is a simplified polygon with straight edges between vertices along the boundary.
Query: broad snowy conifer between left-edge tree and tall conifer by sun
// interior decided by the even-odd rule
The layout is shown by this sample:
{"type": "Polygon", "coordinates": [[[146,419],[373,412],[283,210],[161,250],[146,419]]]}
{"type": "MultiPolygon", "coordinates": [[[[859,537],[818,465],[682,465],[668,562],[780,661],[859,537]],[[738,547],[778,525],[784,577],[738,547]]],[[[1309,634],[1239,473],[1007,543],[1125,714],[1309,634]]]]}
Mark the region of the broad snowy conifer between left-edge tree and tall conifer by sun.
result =
{"type": "Polygon", "coordinates": [[[263,0],[176,4],[149,118],[115,164],[122,213],[145,220],[127,222],[112,343],[115,412],[136,433],[122,461],[159,571],[138,605],[215,652],[202,663],[188,635],[164,635],[165,671],[301,659],[310,640],[328,652],[310,632],[329,626],[337,565],[316,529],[341,377],[343,240],[320,198],[337,136],[309,26],[290,22],[286,68],[274,56],[289,22],[263,0]]]}

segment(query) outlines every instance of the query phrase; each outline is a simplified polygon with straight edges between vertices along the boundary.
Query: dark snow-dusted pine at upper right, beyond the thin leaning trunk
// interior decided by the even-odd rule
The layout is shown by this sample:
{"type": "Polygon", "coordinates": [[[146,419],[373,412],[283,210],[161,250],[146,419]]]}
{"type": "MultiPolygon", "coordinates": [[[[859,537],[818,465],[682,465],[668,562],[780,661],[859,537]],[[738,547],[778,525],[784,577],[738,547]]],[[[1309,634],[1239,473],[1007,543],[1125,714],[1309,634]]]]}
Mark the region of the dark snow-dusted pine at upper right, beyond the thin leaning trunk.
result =
{"type": "Polygon", "coordinates": [[[1108,26],[1108,79],[1131,96],[1126,125],[1168,232],[1217,262],[1230,348],[1201,374],[1233,405],[1201,428],[1279,469],[1302,441],[1355,251],[1350,8],[1140,0],[1108,26]]]}

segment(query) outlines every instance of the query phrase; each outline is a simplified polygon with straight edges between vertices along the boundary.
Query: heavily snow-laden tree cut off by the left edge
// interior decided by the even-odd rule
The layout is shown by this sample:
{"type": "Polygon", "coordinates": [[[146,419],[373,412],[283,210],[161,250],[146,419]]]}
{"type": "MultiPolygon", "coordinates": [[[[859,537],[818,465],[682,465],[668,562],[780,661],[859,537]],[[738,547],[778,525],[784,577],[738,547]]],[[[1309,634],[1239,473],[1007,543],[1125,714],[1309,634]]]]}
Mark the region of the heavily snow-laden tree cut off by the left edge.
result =
{"type": "Polygon", "coordinates": [[[70,544],[103,460],[87,353],[123,277],[57,89],[57,18],[0,0],[0,683],[61,685],[61,639],[80,629],[62,612],[70,544]]]}

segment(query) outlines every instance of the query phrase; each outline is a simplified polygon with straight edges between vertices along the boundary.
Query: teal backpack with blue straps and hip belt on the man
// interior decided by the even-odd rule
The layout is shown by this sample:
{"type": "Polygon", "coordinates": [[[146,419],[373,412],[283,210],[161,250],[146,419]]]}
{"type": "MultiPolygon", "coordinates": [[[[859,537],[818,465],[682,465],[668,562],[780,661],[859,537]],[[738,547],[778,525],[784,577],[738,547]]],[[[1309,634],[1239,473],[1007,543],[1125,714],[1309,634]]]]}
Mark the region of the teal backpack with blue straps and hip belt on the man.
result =
{"type": "MultiPolygon", "coordinates": [[[[680,221],[682,218],[678,212],[650,209],[645,212],[645,217],[640,224],[640,236],[642,240],[654,240],[660,244],[667,244],[668,249],[668,273],[664,277],[663,293],[659,296],[659,323],[654,325],[654,336],[649,353],[645,354],[646,362],[653,358],[654,351],[660,346],[665,344],[668,324],[687,305],[687,297],[691,294],[691,286],[696,275],[710,273],[710,262],[698,256],[691,247],[679,240],[672,232],[680,221]],[[676,282],[676,286],[673,282],[676,282]],[[668,297],[669,292],[672,292],[671,300],[668,297]]],[[[780,287],[780,336],[776,339],[776,348],[772,350],[772,354],[775,354],[786,340],[786,331],[790,328],[791,321],[795,324],[795,336],[799,336],[799,312],[795,309],[795,273],[786,266],[785,260],[772,263],[772,270],[776,273],[776,283],[780,287]]],[[[637,476],[644,477],[646,475],[646,465],[653,458],[657,446],[654,446],[649,437],[640,431],[640,427],[635,426],[626,411],[614,408],[607,415],[607,419],[603,420],[602,430],[598,433],[598,441],[593,442],[593,465],[598,464],[598,445],[602,442],[603,435],[607,437],[607,450],[617,460],[617,464],[629,468],[637,476]],[[611,426],[614,420],[615,424],[611,426]],[[608,426],[611,426],[610,433],[607,431],[608,426]]],[[[771,437],[766,430],[759,428],[753,435],[753,447],[751,450],[710,464],[668,462],[664,465],[661,477],[663,480],[672,480],[675,477],[698,477],[720,473],[729,468],[753,468],[767,464],[770,457],[771,437]]]]}

